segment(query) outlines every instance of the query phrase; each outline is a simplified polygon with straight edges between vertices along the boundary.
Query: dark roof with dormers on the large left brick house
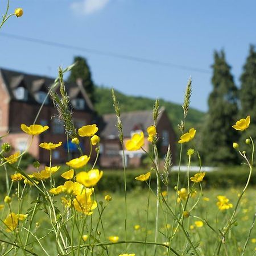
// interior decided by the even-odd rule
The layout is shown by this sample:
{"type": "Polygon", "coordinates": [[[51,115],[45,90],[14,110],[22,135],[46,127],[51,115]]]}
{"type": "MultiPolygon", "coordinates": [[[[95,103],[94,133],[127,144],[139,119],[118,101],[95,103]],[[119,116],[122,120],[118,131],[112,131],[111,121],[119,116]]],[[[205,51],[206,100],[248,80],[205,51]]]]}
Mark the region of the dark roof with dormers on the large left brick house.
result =
{"type": "MultiPolygon", "coordinates": [[[[35,94],[37,92],[48,92],[55,79],[46,76],[31,75],[23,72],[11,71],[9,69],[0,68],[0,76],[7,87],[10,98],[15,100],[14,90],[19,86],[23,86],[28,91],[28,102],[36,103],[35,94]]],[[[86,102],[85,110],[93,111],[93,105],[90,101],[85,89],[78,84],[65,82],[65,86],[71,99],[77,96],[84,98],[86,102]],[[82,88],[81,88],[82,87],[82,88]]]]}

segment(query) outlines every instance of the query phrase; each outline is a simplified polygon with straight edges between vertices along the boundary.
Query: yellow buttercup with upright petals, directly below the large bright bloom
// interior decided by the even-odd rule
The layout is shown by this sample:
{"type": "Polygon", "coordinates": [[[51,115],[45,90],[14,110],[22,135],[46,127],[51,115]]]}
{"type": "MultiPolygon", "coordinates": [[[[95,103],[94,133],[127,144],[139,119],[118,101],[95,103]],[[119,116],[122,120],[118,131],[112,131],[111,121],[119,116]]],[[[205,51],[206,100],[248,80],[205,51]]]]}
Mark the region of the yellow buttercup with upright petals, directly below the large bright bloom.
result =
{"type": "Polygon", "coordinates": [[[92,210],[97,208],[97,202],[90,199],[93,191],[93,188],[86,188],[82,191],[81,195],[76,196],[76,198],[73,200],[73,204],[77,212],[90,215],[93,213],[92,210]]]}

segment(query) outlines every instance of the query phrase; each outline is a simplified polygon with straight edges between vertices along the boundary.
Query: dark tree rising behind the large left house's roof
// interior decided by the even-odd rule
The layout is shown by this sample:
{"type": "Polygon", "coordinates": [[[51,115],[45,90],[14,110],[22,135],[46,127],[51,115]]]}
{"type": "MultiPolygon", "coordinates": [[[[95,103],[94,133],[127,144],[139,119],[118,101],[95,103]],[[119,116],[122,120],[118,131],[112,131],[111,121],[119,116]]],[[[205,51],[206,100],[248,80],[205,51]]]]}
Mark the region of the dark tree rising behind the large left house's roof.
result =
{"type": "Polygon", "coordinates": [[[89,65],[87,64],[86,59],[80,56],[74,57],[74,62],[76,65],[71,70],[71,74],[68,77],[68,82],[76,82],[77,79],[82,79],[82,85],[84,86],[90,100],[92,103],[94,103],[94,84],[89,65]]]}

